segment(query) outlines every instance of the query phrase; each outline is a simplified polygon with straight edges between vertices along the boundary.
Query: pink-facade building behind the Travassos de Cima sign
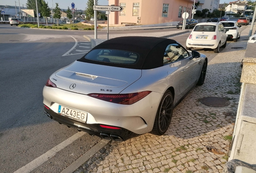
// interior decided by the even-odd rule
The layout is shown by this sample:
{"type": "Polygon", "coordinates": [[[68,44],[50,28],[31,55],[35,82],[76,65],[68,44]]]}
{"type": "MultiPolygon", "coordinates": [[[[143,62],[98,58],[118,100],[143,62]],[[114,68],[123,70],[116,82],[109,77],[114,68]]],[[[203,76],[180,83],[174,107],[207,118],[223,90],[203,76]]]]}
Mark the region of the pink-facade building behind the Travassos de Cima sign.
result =
{"type": "Polygon", "coordinates": [[[158,24],[182,20],[192,15],[194,0],[109,0],[109,6],[122,6],[122,12],[111,12],[109,24],[158,24]]]}

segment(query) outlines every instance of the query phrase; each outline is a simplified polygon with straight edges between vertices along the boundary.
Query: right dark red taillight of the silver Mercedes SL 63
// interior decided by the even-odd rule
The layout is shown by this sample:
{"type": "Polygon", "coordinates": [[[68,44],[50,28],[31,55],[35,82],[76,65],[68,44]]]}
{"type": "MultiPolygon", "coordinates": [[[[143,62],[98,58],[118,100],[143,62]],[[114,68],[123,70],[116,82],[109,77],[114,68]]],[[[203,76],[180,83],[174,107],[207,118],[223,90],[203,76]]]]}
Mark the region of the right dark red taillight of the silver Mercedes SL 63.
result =
{"type": "Polygon", "coordinates": [[[118,103],[122,105],[132,105],[137,101],[143,99],[147,95],[149,95],[151,91],[143,91],[138,93],[130,93],[130,94],[89,94],[88,96],[94,97],[96,99],[100,99],[103,101],[108,101],[111,103],[118,103]]]}

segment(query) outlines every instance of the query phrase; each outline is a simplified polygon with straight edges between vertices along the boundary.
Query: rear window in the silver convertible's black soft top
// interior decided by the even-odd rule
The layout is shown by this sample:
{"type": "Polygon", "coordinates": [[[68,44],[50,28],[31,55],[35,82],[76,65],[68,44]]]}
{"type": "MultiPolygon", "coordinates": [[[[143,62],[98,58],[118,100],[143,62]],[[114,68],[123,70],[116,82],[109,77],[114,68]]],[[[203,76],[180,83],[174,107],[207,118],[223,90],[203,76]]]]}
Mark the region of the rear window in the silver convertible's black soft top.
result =
{"type": "Polygon", "coordinates": [[[86,59],[117,64],[135,64],[139,55],[134,52],[112,49],[95,49],[89,52],[86,59]]]}

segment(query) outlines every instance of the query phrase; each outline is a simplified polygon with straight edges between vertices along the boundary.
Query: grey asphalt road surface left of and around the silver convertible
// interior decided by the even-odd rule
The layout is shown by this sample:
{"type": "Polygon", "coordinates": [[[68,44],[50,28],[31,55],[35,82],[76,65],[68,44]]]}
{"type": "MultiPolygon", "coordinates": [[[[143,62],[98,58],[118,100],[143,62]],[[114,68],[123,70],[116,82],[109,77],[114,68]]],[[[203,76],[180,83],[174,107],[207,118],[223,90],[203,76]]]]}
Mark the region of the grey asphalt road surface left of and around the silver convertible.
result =
{"type": "MultiPolygon", "coordinates": [[[[110,31],[109,34],[177,30],[110,31]]],[[[60,125],[43,113],[42,90],[56,70],[90,50],[83,35],[94,31],[18,28],[0,24],[0,173],[12,173],[68,138],[70,145],[32,172],[61,172],[101,139],[60,125]],[[80,136],[79,136],[80,135],[80,136]]],[[[98,34],[107,34],[98,31],[98,34]]],[[[174,37],[185,46],[189,34],[174,37]]],[[[229,42],[228,42],[229,44],[229,42]]],[[[223,48],[221,48],[222,50],[223,48]]],[[[199,50],[210,59],[213,50],[199,50]]]]}

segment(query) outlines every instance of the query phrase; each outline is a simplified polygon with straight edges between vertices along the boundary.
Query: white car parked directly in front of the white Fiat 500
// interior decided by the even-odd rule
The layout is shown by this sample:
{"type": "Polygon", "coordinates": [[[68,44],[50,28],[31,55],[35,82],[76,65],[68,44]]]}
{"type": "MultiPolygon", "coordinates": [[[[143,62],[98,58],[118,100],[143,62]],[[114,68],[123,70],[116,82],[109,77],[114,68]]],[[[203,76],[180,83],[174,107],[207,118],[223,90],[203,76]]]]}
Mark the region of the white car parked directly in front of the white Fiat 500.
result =
{"type": "Polygon", "coordinates": [[[241,34],[241,25],[239,25],[236,21],[221,21],[224,29],[228,29],[226,32],[227,38],[233,39],[234,42],[237,42],[237,39],[240,38],[241,34]]]}

